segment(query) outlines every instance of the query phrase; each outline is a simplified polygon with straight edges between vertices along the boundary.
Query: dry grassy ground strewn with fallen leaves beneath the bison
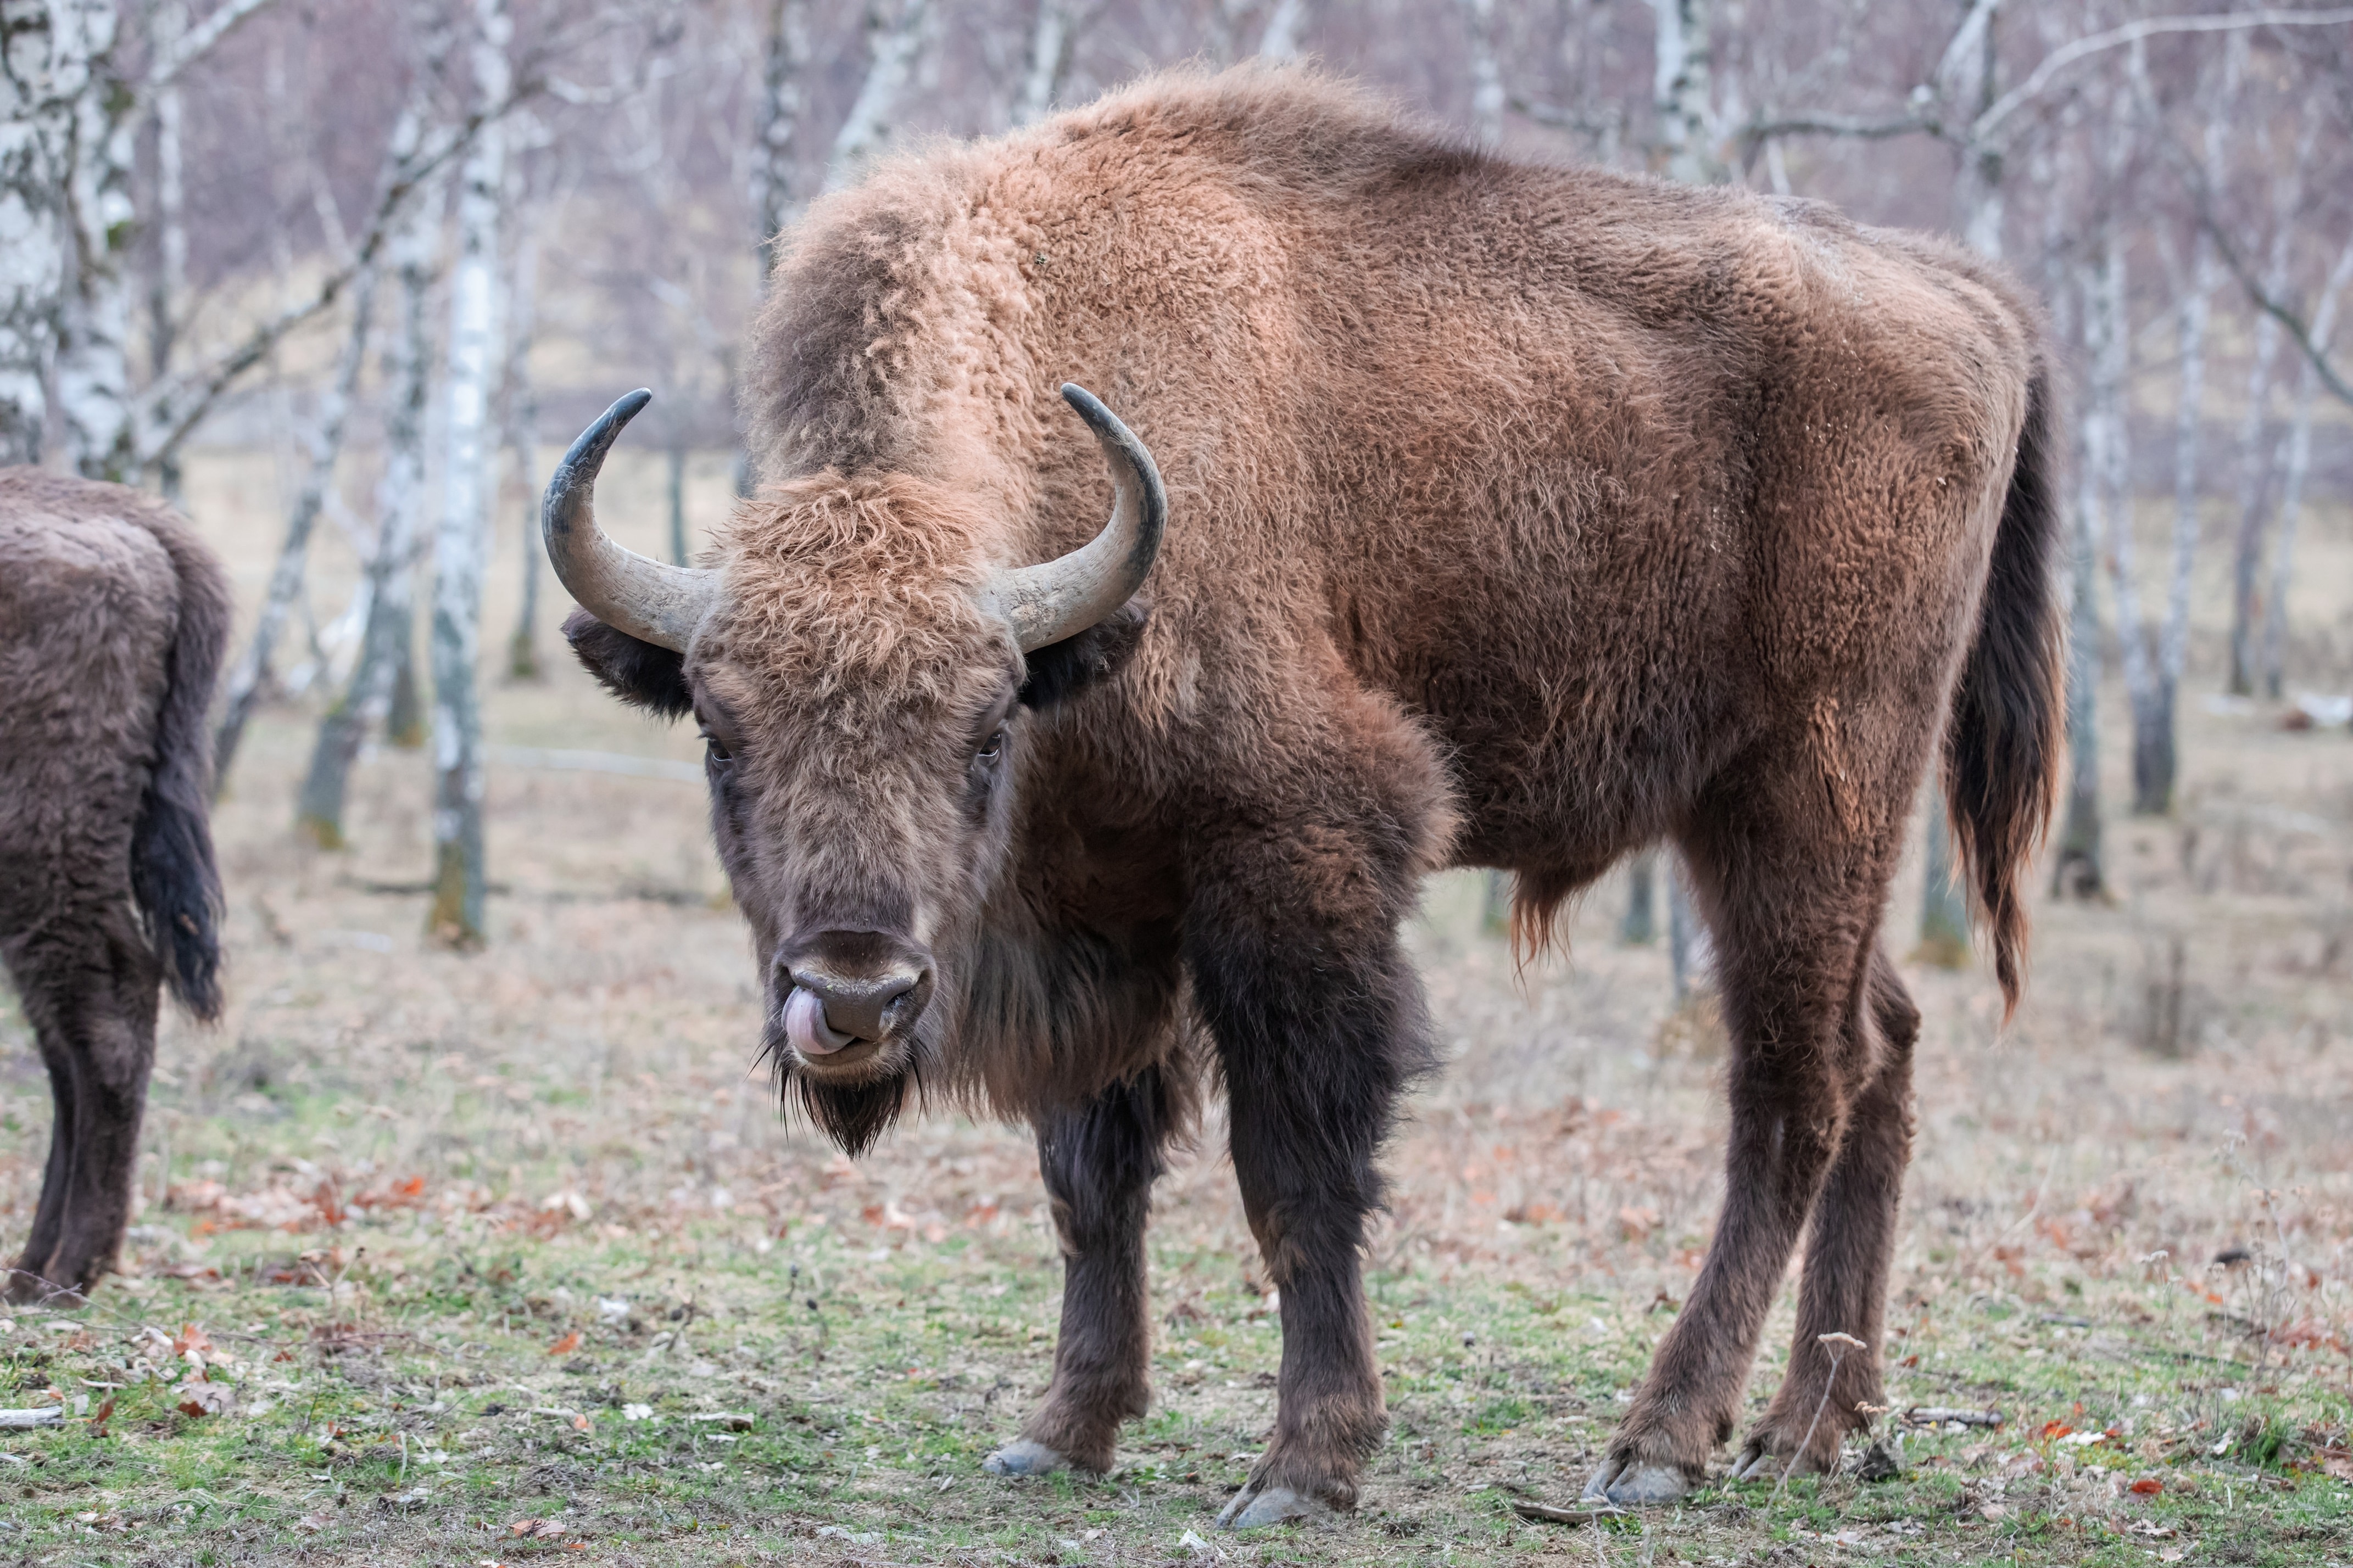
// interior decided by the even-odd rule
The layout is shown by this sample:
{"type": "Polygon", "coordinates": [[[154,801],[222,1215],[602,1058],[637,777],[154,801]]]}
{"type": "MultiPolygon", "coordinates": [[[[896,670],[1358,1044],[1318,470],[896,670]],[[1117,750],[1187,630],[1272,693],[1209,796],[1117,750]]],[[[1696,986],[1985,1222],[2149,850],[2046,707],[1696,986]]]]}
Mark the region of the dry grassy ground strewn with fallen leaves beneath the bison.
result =
{"type": "MultiPolygon", "coordinates": [[[[209,484],[198,515],[238,515],[209,484]]],[[[224,536],[240,581],[264,536],[224,536]]],[[[1513,1512],[1574,1502],[1689,1288],[1720,1060],[1664,954],[1614,943],[1619,886],[1515,983],[1442,879],[1414,943],[1449,1070],[1369,1260],[1391,1441],[1353,1519],[1247,1540],[1209,1521],[1278,1335],[1214,1124],[1158,1194],[1120,1467],[984,1476],[1052,1359],[1035,1157],[932,1119],[852,1166],[776,1119],[699,788],[546,755],[689,741],[572,670],[496,689],[492,741],[539,750],[499,752],[492,945],[456,957],[419,936],[424,762],[369,759],[355,849],[304,851],[311,719],[273,710],[219,813],[231,1011],[165,1025],[125,1274],[0,1326],[0,1406],[68,1413],[0,1436],[0,1561],[2348,1563],[2353,745],[2186,710],[2179,816],[2115,825],[2115,903],[2040,910],[2007,1032],[1984,976],[1906,966],[1897,1479],[1513,1512]]],[[[0,1001],[0,1244],[45,1143],[0,1001]]],[[[1755,1406],[1788,1333],[1784,1300],[1755,1406]]]]}

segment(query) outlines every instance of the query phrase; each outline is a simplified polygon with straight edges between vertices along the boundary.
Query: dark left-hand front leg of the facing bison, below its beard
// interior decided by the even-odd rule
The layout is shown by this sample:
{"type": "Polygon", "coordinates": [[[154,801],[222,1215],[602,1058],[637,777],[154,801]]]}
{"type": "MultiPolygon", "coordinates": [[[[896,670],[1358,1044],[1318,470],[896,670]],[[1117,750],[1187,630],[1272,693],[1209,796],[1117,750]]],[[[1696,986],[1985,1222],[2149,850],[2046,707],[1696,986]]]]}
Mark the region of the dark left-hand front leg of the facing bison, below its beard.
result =
{"type": "Polygon", "coordinates": [[[1038,1168],[1064,1258],[1061,1338],[1045,1403],[1019,1441],[988,1455],[993,1474],[1111,1469],[1120,1422],[1151,1406],[1144,1222],[1172,1119],[1160,1067],[1148,1067],[1038,1124],[1038,1168]]]}

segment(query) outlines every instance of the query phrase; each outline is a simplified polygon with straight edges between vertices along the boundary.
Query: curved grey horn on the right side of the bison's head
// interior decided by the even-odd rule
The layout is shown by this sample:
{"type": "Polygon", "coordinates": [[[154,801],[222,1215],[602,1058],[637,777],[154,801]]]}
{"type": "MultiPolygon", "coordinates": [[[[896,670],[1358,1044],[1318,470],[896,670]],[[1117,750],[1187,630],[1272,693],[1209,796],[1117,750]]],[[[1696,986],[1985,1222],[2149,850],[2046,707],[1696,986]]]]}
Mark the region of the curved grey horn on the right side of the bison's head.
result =
{"type": "Polygon", "coordinates": [[[1144,588],[1169,520],[1160,468],[1136,433],[1082,386],[1064,381],[1061,397],[1094,430],[1120,498],[1104,531],[1078,550],[1038,567],[1012,567],[991,578],[981,602],[1012,623],[1024,654],[1075,637],[1127,604],[1144,588]]]}

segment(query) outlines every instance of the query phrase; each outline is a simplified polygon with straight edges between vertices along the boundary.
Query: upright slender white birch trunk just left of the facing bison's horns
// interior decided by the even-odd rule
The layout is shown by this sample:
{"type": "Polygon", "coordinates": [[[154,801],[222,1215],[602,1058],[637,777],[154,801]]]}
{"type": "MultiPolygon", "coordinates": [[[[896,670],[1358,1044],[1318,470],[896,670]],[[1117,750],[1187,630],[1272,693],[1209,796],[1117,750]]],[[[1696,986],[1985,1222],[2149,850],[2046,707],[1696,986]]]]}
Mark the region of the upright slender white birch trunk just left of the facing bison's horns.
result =
{"type": "MultiPolygon", "coordinates": [[[[475,0],[473,92],[504,103],[513,80],[508,0],[475,0]]],[[[449,397],[442,515],[433,534],[433,905],[426,931],[452,947],[482,943],[482,569],[489,545],[489,397],[499,348],[499,202],[506,127],[475,136],[459,181],[449,273],[449,397]]]]}

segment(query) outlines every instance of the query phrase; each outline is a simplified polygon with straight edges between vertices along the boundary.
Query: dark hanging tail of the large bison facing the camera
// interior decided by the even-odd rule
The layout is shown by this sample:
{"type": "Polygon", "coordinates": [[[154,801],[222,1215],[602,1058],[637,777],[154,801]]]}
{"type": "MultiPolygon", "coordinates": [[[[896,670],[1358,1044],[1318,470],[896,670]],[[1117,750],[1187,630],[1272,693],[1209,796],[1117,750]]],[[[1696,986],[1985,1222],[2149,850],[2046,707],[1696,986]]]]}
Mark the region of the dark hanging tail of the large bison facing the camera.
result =
{"type": "Polygon", "coordinates": [[[2061,675],[2066,621],[2059,604],[2059,475],[2052,378],[2035,367],[2026,390],[2026,425],[1993,567],[1944,736],[1944,790],[1953,839],[1981,919],[1993,933],[1993,973],[2002,983],[2002,1018],[2019,1006],[2026,860],[2049,827],[2066,748],[2061,675]]]}

